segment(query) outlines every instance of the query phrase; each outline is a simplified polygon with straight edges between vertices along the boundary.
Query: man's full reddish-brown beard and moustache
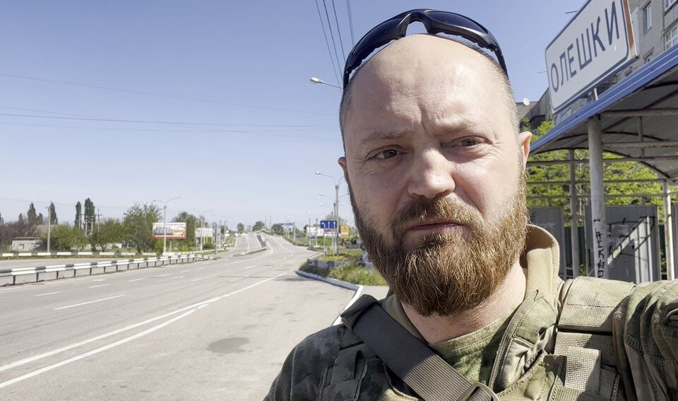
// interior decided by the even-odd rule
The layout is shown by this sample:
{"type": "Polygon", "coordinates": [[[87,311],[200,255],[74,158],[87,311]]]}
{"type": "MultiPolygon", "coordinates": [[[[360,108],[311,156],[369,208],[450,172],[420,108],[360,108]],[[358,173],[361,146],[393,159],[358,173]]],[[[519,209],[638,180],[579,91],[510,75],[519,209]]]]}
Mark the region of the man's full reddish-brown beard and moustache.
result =
{"type": "Polygon", "coordinates": [[[350,186],[349,193],[367,253],[393,293],[422,316],[444,316],[487,300],[520,257],[529,219],[522,174],[517,184],[499,215],[492,216],[492,223],[484,221],[479,211],[448,197],[418,197],[391,219],[391,241],[374,228],[369,209],[359,210],[350,186]],[[429,219],[464,227],[405,243],[405,225],[429,219]]]}

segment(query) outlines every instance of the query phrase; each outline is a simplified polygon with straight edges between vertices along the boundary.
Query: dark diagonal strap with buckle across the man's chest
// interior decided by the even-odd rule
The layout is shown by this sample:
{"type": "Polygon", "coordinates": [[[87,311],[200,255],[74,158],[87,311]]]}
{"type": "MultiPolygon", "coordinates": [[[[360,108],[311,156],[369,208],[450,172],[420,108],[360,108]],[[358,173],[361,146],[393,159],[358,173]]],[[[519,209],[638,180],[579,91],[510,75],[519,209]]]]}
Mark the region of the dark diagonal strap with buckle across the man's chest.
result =
{"type": "Polygon", "coordinates": [[[499,401],[486,385],[470,383],[426,344],[412,336],[381,308],[374,297],[360,297],[342,314],[342,320],[424,400],[499,401]]]}

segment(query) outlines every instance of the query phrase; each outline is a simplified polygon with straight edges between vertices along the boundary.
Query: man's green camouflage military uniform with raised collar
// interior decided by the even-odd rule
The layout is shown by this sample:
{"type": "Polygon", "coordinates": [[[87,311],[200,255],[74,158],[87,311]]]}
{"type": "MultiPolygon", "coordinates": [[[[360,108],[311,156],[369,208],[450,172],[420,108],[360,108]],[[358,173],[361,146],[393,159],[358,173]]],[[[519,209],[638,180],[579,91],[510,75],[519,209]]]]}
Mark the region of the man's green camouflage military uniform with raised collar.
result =
{"type": "MultiPolygon", "coordinates": [[[[562,281],[558,245],[535,226],[525,249],[523,303],[487,327],[429,347],[501,400],[678,400],[678,281],[562,281]]],[[[424,341],[395,295],[381,306],[424,341]]],[[[338,325],[292,350],[266,400],[417,396],[338,325]]]]}

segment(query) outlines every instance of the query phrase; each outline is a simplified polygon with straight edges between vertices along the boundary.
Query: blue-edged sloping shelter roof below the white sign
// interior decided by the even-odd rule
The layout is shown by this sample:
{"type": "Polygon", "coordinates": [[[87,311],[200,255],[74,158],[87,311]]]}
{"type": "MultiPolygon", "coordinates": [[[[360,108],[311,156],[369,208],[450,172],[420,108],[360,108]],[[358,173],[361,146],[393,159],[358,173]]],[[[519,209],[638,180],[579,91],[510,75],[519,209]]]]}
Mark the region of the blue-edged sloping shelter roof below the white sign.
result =
{"type": "Polygon", "coordinates": [[[604,151],[639,161],[665,178],[678,177],[678,46],[567,117],[537,139],[531,153],[588,149],[587,121],[595,115],[600,116],[604,151]],[[639,130],[643,144],[638,143],[639,130]]]}

